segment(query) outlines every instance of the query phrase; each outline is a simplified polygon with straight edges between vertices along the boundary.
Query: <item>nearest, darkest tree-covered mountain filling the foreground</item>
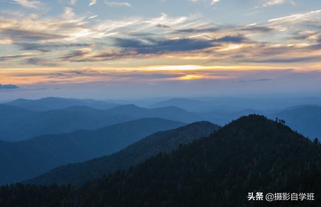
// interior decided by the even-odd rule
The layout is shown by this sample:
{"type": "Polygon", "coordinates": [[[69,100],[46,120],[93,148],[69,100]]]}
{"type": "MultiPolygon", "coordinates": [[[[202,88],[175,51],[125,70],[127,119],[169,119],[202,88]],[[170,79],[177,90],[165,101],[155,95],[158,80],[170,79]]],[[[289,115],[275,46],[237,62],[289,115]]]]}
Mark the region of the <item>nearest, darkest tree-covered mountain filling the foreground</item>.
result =
{"type": "Polygon", "coordinates": [[[1,206],[317,206],[321,146],[282,121],[249,115],[208,137],[81,187],[16,184],[1,206]],[[315,201],[249,201],[248,192],[313,192],[315,201]]]}

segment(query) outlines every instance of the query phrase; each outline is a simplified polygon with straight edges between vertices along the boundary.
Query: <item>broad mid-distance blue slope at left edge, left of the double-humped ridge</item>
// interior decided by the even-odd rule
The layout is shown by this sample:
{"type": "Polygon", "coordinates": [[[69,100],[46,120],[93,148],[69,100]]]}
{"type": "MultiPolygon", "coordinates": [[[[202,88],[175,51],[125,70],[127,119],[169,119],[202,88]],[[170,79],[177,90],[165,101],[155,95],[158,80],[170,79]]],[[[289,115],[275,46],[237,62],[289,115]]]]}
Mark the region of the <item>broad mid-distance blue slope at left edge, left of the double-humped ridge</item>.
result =
{"type": "Polygon", "coordinates": [[[127,115],[112,115],[105,110],[86,106],[30,111],[0,104],[0,140],[20,141],[48,133],[95,129],[132,119],[127,115]]]}

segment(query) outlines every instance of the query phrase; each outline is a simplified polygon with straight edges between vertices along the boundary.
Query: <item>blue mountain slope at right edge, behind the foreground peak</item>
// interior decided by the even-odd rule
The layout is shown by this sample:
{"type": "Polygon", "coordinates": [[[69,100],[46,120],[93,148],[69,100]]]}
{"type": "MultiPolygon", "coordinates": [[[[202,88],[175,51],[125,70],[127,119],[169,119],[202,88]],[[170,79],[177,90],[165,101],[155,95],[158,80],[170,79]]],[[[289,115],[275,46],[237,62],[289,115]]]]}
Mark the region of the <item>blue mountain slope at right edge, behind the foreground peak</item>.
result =
{"type": "Polygon", "coordinates": [[[296,107],[269,116],[284,119],[293,130],[311,139],[321,138],[321,106],[296,107]]]}

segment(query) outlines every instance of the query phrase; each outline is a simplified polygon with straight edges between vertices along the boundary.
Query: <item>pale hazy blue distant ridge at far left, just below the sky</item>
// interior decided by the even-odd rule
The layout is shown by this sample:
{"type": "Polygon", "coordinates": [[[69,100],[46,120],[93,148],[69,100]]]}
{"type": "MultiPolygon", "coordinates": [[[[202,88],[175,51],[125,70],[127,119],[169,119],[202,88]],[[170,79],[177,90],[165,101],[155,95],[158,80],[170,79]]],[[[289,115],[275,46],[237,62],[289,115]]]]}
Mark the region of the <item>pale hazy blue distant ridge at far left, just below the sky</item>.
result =
{"type": "Polygon", "coordinates": [[[19,98],[5,103],[7,105],[17,106],[27,110],[46,111],[67,108],[70,106],[88,106],[97,109],[108,109],[119,104],[94,99],[62,98],[62,97],[45,97],[41,99],[24,99],[19,98]]]}

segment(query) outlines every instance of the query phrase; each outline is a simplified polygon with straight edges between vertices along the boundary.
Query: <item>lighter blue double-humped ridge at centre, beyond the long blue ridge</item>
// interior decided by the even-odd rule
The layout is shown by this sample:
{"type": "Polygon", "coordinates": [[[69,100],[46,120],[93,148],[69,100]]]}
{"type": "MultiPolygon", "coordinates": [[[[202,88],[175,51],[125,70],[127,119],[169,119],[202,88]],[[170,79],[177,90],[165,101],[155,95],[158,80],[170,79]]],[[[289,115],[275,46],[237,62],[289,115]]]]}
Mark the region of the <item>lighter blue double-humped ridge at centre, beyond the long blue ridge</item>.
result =
{"type": "Polygon", "coordinates": [[[175,106],[142,108],[134,104],[128,104],[116,106],[106,111],[113,115],[125,114],[136,118],[159,117],[184,122],[194,122],[200,120],[199,116],[197,116],[196,114],[175,106]]]}

